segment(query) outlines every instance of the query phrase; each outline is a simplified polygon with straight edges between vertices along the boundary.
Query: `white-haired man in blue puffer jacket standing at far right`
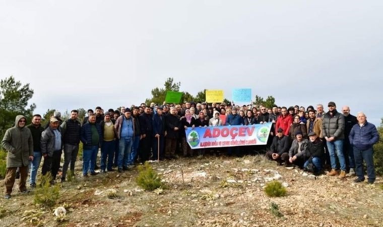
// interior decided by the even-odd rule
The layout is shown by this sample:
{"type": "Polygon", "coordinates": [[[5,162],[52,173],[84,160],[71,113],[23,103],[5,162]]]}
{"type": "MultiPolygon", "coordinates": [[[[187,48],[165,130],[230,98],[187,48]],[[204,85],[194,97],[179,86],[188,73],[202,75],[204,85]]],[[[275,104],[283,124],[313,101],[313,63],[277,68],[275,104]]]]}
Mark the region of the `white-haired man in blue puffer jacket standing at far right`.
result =
{"type": "Polygon", "coordinates": [[[350,144],[354,148],[355,172],[358,177],[354,182],[359,183],[364,181],[364,160],[367,166],[368,184],[373,184],[375,181],[375,169],[372,160],[372,146],[379,141],[379,134],[376,127],[366,121],[366,116],[363,112],[358,112],[356,119],[358,120],[358,124],[352,127],[348,136],[350,144]]]}

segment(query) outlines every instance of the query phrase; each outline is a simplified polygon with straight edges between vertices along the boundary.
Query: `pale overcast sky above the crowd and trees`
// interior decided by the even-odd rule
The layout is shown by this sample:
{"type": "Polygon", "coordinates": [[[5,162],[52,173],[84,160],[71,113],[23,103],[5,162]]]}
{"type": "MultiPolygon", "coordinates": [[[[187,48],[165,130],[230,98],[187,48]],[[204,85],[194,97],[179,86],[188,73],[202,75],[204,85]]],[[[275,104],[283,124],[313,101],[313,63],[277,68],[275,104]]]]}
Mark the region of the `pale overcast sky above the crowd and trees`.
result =
{"type": "Polygon", "coordinates": [[[0,77],[35,113],[251,88],[276,103],[383,117],[383,1],[0,1],[0,77]],[[326,107],[327,109],[327,107],[326,107]]]}

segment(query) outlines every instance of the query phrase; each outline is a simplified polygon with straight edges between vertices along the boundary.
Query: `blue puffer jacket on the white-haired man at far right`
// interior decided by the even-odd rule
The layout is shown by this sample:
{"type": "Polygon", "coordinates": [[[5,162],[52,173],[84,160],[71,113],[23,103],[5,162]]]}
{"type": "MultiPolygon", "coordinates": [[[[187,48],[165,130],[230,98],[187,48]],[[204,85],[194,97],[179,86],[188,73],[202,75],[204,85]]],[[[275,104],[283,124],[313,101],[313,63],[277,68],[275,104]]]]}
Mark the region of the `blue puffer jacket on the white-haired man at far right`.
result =
{"type": "Polygon", "coordinates": [[[372,145],[379,142],[379,133],[373,124],[366,121],[362,126],[359,124],[354,125],[348,138],[350,144],[357,149],[367,150],[372,148],[372,145]]]}

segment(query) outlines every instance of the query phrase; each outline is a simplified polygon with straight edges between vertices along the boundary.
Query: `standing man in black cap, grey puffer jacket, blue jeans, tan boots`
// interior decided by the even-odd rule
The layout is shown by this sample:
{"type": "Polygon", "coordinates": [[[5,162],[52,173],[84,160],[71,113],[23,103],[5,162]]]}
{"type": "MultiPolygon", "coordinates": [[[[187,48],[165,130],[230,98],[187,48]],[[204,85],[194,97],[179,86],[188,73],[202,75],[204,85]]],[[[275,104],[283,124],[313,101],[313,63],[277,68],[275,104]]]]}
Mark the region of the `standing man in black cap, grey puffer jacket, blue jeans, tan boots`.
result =
{"type": "Polygon", "coordinates": [[[344,116],[336,109],[335,102],[329,102],[329,111],[323,117],[322,132],[323,137],[327,141],[327,147],[331,159],[331,172],[328,176],[336,176],[339,171],[337,170],[337,158],[339,160],[341,173],[339,178],[346,177],[346,161],[343,155],[343,141],[344,141],[344,116]]]}

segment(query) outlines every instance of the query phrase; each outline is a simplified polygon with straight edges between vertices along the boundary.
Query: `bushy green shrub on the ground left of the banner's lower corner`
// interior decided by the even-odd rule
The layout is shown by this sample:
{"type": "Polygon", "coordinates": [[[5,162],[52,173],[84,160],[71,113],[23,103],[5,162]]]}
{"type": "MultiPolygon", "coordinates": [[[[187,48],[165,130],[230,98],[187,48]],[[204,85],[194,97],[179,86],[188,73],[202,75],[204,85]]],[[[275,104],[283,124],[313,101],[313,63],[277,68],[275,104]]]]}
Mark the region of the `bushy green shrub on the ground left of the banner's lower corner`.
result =
{"type": "Polygon", "coordinates": [[[138,171],[139,174],[136,178],[136,183],[138,186],[148,191],[153,191],[160,187],[164,188],[164,185],[161,182],[161,178],[153,170],[149,162],[145,162],[144,165],[138,166],[138,171]]]}

